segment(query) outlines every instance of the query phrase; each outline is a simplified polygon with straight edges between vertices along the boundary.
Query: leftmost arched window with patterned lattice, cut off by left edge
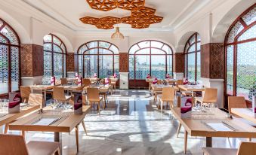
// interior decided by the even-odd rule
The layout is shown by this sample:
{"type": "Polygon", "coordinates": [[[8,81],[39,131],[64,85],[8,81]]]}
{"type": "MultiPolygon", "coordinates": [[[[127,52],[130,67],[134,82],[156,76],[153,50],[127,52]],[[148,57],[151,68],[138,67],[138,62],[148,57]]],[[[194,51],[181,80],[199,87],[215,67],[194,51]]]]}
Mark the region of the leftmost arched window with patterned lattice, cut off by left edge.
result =
{"type": "Polygon", "coordinates": [[[19,90],[20,38],[0,18],[0,94],[19,90]]]}

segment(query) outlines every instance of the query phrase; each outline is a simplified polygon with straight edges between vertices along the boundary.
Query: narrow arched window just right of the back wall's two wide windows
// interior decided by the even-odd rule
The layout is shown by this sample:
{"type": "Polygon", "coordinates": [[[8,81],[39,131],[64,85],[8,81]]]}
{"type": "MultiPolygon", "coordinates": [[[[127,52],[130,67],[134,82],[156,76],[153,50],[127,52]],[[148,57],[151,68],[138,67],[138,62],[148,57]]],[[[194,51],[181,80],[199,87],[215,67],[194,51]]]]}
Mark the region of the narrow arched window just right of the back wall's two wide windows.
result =
{"type": "Polygon", "coordinates": [[[189,81],[199,81],[201,78],[201,39],[198,33],[193,34],[184,50],[185,74],[189,81]]]}

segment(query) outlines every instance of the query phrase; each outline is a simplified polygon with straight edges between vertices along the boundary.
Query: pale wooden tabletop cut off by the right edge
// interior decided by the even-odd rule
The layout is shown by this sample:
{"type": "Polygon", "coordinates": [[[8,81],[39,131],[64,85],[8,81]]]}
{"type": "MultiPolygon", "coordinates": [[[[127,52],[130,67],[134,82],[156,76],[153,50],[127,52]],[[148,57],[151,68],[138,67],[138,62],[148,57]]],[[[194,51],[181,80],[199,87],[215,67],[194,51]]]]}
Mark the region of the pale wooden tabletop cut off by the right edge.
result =
{"type": "Polygon", "coordinates": [[[231,108],[231,113],[256,124],[256,118],[254,117],[254,113],[250,108],[231,108]]]}

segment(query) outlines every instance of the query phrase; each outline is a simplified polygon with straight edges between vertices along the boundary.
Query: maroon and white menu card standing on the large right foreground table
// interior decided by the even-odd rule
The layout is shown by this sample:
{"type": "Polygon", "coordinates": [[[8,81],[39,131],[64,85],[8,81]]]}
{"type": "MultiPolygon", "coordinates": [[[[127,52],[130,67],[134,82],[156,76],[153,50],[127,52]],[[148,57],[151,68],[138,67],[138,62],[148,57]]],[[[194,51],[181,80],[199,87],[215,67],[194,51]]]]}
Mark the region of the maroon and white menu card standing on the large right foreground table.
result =
{"type": "Polygon", "coordinates": [[[192,97],[182,96],[180,104],[180,115],[181,118],[189,118],[192,114],[192,97]]]}

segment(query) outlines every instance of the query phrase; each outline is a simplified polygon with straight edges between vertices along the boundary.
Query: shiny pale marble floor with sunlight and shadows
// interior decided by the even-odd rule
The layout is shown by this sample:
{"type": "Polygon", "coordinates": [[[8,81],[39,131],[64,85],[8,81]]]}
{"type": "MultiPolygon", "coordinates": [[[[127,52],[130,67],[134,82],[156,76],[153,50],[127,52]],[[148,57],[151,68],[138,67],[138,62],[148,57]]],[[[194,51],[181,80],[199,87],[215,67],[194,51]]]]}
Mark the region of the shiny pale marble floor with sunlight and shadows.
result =
{"type": "MultiPolygon", "coordinates": [[[[116,90],[108,98],[107,108],[100,111],[100,116],[91,111],[85,117],[88,135],[79,126],[79,153],[75,132],[62,134],[63,154],[184,154],[184,130],[176,138],[177,120],[171,111],[159,112],[148,90],[116,90]]],[[[26,141],[30,140],[54,141],[54,133],[28,132],[26,141]]],[[[246,139],[213,138],[213,147],[237,148],[240,141],[246,139]]],[[[189,136],[187,146],[187,154],[202,154],[205,138],[189,136]]]]}

